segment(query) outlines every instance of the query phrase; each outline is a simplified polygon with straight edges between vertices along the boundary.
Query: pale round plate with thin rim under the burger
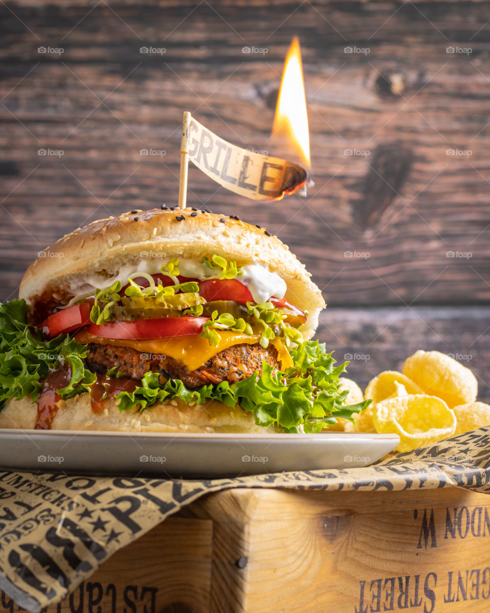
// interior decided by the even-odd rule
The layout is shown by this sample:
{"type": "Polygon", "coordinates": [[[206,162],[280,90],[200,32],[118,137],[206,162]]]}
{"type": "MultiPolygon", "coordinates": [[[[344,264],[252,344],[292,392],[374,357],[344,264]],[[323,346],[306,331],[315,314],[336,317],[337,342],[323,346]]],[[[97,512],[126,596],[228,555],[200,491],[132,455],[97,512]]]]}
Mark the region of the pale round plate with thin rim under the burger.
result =
{"type": "Polygon", "coordinates": [[[0,467],[78,474],[220,478],[366,466],[398,435],[166,434],[0,430],[0,467]]]}

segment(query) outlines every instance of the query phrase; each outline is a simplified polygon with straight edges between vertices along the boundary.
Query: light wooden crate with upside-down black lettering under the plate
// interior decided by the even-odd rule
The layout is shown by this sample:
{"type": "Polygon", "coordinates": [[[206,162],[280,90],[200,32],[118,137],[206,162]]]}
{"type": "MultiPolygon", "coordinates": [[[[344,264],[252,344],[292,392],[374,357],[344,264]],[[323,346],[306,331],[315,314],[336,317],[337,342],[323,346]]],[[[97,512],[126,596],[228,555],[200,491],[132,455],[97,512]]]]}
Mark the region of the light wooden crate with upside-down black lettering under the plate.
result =
{"type": "MultiPolygon", "coordinates": [[[[490,498],[228,490],[114,555],[49,613],[477,613],[490,498]]],[[[0,597],[0,611],[18,611],[0,597]]]]}

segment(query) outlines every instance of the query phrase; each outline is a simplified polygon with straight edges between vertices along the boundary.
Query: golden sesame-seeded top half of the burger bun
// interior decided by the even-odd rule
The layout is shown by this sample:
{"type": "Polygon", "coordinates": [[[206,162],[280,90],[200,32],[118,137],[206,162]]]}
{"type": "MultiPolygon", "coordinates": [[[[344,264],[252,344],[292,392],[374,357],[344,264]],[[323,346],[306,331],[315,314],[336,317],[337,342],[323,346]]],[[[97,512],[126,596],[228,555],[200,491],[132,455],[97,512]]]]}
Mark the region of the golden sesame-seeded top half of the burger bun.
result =
{"type": "Polygon", "coordinates": [[[74,288],[86,287],[89,278],[96,278],[97,286],[104,287],[108,284],[105,280],[142,260],[202,260],[213,254],[236,260],[238,265],[262,264],[281,276],[287,284],[285,298],[309,311],[301,332],[305,338],[312,337],[325,302],[311,275],[287,246],[265,229],[236,216],[190,208],[137,210],[78,228],[32,262],[21,281],[19,297],[32,307],[37,302],[64,304],[81,293],[74,288]]]}

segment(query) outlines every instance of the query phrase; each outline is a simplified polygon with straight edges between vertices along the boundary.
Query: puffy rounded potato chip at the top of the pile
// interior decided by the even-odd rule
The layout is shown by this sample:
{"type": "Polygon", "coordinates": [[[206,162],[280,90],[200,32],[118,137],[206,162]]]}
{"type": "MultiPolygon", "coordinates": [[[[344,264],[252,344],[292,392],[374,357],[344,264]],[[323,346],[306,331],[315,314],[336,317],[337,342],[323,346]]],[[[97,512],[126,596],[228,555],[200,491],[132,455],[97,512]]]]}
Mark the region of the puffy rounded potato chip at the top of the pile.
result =
{"type": "Polygon", "coordinates": [[[477,399],[478,383],[472,371],[439,351],[416,351],[405,360],[403,374],[424,394],[442,398],[449,408],[477,399]]]}

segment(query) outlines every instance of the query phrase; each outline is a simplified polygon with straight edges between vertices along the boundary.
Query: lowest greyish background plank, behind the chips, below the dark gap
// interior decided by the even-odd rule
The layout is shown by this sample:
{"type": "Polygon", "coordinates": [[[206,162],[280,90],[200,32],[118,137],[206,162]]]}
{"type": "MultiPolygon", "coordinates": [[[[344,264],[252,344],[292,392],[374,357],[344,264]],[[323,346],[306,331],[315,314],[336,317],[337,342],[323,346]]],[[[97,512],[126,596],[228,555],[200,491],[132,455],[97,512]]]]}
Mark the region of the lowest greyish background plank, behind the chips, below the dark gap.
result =
{"type": "Polygon", "coordinates": [[[489,402],[489,333],[488,307],[327,307],[315,338],[335,350],[337,362],[350,360],[347,376],[362,389],[383,370],[401,370],[418,349],[436,350],[469,367],[478,398],[489,402]]]}

